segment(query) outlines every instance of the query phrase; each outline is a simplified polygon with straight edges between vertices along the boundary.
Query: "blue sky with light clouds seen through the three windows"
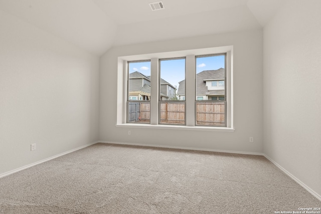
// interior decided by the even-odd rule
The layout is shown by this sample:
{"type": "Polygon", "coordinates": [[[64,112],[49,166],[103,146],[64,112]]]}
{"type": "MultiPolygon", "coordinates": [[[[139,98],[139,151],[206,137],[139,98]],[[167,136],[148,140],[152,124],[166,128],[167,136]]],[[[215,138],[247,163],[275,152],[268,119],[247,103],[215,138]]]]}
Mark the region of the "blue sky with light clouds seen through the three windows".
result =
{"type": "MultiPolygon", "coordinates": [[[[179,82],[185,79],[185,59],[161,60],[161,78],[179,87],[179,82]]],[[[196,73],[205,70],[225,68],[225,56],[210,56],[196,58],[196,73]]],[[[150,62],[129,63],[129,73],[138,71],[150,76],[150,62]]]]}

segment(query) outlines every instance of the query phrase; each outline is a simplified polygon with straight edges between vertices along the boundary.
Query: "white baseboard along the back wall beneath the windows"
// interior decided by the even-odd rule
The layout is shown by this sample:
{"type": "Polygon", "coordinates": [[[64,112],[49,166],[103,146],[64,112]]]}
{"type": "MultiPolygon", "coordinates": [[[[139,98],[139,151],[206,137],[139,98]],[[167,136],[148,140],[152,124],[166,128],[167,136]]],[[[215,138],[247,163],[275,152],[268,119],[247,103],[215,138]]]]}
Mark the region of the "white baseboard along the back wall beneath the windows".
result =
{"type": "Polygon", "coordinates": [[[218,150],[218,149],[205,149],[205,148],[194,148],[194,147],[181,147],[181,146],[165,146],[165,145],[153,145],[153,144],[140,144],[140,143],[123,143],[123,142],[111,142],[111,141],[98,141],[100,143],[114,143],[123,145],[134,145],[134,146],[149,146],[149,147],[161,147],[161,148],[171,148],[171,149],[186,149],[186,150],[198,150],[198,151],[214,151],[214,152],[224,152],[224,153],[235,153],[235,154],[251,154],[251,155],[262,155],[263,153],[258,152],[244,152],[244,151],[230,151],[230,150],[218,150]]]}

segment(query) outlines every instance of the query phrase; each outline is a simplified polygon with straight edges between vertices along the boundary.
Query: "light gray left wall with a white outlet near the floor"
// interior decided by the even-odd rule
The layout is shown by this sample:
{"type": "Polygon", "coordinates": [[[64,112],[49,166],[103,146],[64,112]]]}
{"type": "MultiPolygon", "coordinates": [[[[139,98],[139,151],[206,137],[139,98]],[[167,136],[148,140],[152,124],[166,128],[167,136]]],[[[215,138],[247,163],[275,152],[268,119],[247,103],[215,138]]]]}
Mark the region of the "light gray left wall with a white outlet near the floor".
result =
{"type": "Polygon", "coordinates": [[[97,141],[99,58],[1,10],[0,26],[0,175],[97,141]]]}

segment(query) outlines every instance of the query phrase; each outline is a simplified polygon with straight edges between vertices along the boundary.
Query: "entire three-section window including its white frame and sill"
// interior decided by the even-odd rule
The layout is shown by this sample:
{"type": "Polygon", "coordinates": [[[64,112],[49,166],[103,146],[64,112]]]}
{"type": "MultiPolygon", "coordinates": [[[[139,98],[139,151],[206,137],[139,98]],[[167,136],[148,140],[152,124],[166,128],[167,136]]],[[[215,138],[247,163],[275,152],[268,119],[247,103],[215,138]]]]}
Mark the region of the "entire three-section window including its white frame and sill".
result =
{"type": "Polygon", "coordinates": [[[233,46],[118,57],[116,127],[234,131],[232,61],[233,46]],[[166,71],[166,64],[180,60],[185,75],[173,81],[180,72],[173,65],[166,71]],[[137,79],[141,90],[134,87],[137,79]]]}

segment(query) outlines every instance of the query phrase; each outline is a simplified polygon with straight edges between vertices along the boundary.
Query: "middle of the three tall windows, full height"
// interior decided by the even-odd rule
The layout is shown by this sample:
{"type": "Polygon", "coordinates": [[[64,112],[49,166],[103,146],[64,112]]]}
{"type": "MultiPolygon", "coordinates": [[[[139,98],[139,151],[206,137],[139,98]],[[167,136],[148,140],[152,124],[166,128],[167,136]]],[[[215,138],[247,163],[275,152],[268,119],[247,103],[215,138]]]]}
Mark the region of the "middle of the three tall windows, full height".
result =
{"type": "Polygon", "coordinates": [[[159,60],[159,124],[185,124],[185,58],[159,60]]]}

